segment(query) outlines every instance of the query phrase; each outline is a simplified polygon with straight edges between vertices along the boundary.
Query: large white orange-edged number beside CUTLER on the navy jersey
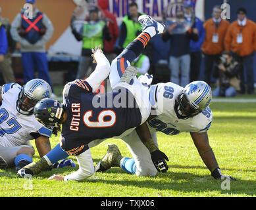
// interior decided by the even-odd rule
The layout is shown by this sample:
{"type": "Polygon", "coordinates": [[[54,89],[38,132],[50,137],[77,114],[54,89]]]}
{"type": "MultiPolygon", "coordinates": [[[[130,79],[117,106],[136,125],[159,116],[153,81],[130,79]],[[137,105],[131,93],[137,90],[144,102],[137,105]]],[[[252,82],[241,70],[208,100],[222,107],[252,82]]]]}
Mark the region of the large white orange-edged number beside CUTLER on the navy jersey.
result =
{"type": "Polygon", "coordinates": [[[99,112],[98,121],[90,121],[92,115],[92,110],[84,114],[84,124],[86,124],[87,127],[112,127],[116,123],[116,114],[113,110],[103,110],[99,112]],[[104,120],[107,116],[111,117],[108,121],[104,120]]]}

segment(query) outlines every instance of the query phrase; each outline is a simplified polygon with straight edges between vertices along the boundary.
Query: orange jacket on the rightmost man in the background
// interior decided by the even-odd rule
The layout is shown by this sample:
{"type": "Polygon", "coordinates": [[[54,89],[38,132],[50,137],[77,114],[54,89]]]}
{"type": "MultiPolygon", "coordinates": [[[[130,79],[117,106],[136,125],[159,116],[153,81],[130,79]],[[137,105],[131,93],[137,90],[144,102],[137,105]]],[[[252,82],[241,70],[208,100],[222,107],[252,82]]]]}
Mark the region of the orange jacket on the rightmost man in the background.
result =
{"type": "Polygon", "coordinates": [[[248,20],[245,26],[240,26],[238,20],[232,22],[228,27],[225,37],[225,50],[232,51],[240,56],[247,56],[256,51],[256,24],[248,20]],[[242,33],[243,42],[237,43],[237,35],[242,33]]]}

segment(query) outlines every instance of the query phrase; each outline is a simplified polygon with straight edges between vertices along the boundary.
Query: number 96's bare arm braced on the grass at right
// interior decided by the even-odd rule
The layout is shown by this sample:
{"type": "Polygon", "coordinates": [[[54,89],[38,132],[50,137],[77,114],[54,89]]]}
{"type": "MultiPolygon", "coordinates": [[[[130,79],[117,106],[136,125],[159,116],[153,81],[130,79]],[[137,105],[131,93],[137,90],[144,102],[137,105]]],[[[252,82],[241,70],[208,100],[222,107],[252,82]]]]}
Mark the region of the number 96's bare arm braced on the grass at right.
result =
{"type": "MultiPolygon", "coordinates": [[[[215,158],[215,154],[213,153],[213,150],[209,144],[209,139],[207,132],[203,133],[193,133],[190,132],[190,135],[193,139],[193,143],[195,144],[195,147],[197,148],[197,151],[199,152],[199,155],[201,156],[201,159],[211,171],[211,175],[215,179],[221,179],[222,173],[220,171],[220,168],[218,167],[217,159],[215,158]]],[[[236,180],[232,177],[230,177],[231,180],[236,180]]]]}

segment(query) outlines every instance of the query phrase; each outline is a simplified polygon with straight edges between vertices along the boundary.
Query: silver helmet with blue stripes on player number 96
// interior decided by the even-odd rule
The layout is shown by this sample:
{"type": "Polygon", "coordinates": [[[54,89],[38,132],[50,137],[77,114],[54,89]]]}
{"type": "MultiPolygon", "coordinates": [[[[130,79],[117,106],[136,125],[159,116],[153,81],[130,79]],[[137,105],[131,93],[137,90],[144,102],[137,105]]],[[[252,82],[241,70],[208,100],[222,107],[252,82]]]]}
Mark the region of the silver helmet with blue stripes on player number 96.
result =
{"type": "Polygon", "coordinates": [[[193,81],[176,98],[174,110],[178,118],[188,119],[205,110],[212,98],[211,87],[207,83],[193,81]]]}

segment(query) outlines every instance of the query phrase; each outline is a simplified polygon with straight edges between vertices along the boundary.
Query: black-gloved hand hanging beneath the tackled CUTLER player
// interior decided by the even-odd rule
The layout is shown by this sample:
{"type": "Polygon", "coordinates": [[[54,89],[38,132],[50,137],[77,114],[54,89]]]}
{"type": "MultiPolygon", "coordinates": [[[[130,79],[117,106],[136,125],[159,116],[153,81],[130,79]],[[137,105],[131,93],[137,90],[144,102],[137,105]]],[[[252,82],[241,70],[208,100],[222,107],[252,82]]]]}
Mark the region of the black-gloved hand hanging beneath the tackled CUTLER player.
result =
{"type": "Polygon", "coordinates": [[[151,159],[157,171],[161,173],[166,173],[166,171],[168,170],[168,165],[166,161],[169,161],[169,159],[167,158],[165,153],[161,152],[160,150],[155,150],[154,152],[151,152],[151,159]]]}

